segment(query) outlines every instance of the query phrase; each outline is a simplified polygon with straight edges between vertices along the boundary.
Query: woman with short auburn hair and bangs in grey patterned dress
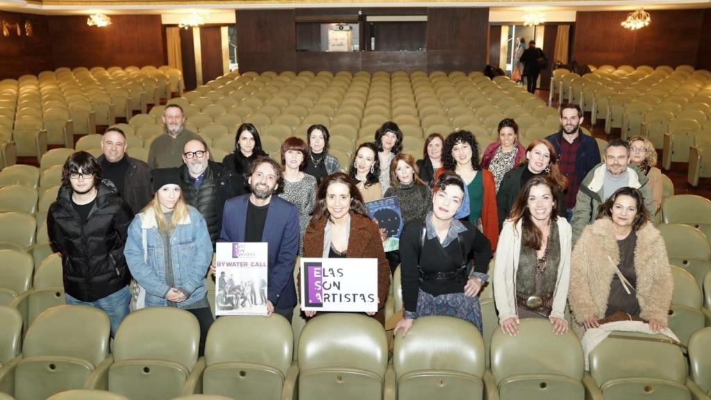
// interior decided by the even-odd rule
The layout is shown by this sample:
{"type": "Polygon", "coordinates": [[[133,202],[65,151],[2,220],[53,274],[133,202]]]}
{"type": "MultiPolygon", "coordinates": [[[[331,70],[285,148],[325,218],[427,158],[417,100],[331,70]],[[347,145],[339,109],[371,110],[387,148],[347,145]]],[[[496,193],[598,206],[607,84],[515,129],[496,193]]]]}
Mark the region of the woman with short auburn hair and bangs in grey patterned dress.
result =
{"type": "Polygon", "coordinates": [[[309,214],[314,211],[316,204],[316,178],[304,173],[307,153],[306,143],[298,137],[288,137],[282,143],[284,188],[279,197],[299,209],[299,254],[304,248],[304,232],[306,226],[309,226],[309,214]]]}

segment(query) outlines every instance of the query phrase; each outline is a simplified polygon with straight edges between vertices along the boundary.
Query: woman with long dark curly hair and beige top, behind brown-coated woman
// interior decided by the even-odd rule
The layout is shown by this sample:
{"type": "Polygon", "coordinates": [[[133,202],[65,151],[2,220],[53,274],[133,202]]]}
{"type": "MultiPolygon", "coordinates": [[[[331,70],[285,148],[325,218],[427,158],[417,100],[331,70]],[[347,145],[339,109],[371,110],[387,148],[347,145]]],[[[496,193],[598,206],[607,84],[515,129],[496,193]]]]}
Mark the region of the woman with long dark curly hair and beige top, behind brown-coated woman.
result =
{"type": "Polygon", "coordinates": [[[363,195],[363,202],[383,199],[378,147],[373,142],[365,142],[358,146],[348,175],[355,181],[355,186],[363,195]]]}

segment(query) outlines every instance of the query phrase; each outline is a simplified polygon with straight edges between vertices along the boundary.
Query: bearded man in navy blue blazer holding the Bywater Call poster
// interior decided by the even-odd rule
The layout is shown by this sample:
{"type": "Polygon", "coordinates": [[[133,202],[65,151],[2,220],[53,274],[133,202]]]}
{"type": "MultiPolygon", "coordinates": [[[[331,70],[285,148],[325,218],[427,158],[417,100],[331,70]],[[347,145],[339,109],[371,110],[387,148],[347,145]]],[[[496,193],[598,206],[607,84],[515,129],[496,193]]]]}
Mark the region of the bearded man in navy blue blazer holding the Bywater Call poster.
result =
{"type": "Polygon", "coordinates": [[[294,204],[273,196],[283,181],[282,168],[273,159],[257,157],[247,177],[252,193],[225,203],[219,241],[267,243],[267,312],[291,322],[296,305],[292,271],[299,252],[299,213],[294,204]]]}

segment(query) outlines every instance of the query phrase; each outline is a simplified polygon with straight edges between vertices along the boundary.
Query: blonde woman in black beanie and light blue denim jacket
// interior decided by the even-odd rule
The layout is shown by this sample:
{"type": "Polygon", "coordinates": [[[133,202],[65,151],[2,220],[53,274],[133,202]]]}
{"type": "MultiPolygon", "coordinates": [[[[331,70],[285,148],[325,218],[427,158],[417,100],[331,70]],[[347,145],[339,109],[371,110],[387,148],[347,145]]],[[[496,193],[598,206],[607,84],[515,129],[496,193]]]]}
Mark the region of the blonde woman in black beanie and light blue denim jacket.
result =
{"type": "Polygon", "coordinates": [[[213,315],[205,274],[213,257],[203,216],[183,200],[178,170],[154,169],[153,201],[129,226],[124,249],[134,280],[145,290],[146,307],[178,307],[200,322],[200,354],[213,315]]]}

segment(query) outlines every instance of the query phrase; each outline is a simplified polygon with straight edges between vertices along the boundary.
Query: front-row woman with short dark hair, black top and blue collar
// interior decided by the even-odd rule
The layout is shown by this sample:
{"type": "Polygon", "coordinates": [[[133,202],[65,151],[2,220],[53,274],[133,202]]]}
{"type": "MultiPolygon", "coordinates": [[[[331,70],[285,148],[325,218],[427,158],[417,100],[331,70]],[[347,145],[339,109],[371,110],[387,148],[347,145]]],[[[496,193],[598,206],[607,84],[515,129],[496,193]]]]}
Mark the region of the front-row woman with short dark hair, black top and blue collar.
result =
{"type": "Polygon", "coordinates": [[[464,181],[444,172],[434,183],[432,211],[424,221],[407,223],[400,235],[403,319],[395,333],[405,335],[417,317],[449,315],[481,331],[477,293],[488,280],[491,245],[469,221],[454,219],[464,199],[464,181]],[[469,262],[474,260],[471,272],[469,262]]]}

